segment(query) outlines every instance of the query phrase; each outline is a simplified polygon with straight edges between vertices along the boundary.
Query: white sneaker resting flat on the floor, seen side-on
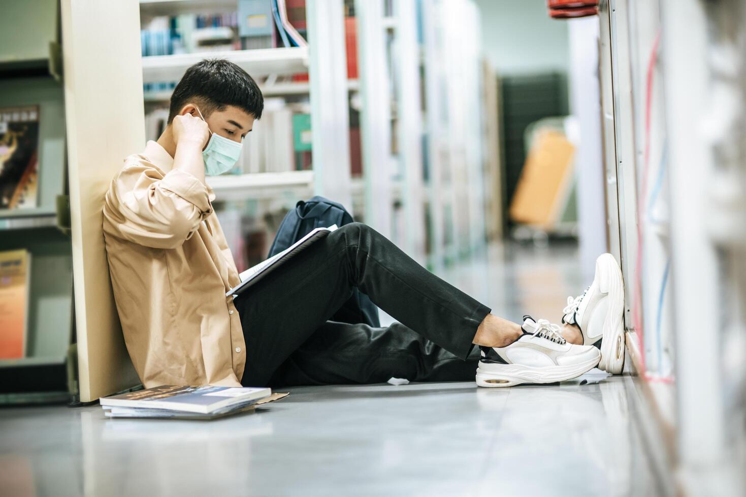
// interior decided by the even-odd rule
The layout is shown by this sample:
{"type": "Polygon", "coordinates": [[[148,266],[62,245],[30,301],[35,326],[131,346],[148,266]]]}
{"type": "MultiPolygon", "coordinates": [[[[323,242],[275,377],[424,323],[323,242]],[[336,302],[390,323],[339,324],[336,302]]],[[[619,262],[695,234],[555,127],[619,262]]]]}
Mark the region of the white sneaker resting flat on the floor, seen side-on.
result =
{"type": "Polygon", "coordinates": [[[513,387],[521,383],[554,383],[580,376],[601,359],[595,346],[568,344],[560,326],[523,317],[523,335],[504,347],[480,346],[480,387],[513,387]]]}

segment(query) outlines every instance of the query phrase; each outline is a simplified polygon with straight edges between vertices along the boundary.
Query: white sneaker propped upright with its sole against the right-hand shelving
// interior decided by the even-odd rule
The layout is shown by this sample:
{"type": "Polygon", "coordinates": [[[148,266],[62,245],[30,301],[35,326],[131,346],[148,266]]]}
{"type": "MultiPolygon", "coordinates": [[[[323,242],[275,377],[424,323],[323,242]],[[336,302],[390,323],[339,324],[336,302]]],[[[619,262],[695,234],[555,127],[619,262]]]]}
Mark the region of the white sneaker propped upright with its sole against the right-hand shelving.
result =
{"type": "Polygon", "coordinates": [[[567,298],[562,323],[575,324],[583,334],[583,344],[601,341],[598,367],[612,374],[624,367],[624,283],[619,265],[610,253],[596,259],[593,283],[582,295],[567,298]]]}

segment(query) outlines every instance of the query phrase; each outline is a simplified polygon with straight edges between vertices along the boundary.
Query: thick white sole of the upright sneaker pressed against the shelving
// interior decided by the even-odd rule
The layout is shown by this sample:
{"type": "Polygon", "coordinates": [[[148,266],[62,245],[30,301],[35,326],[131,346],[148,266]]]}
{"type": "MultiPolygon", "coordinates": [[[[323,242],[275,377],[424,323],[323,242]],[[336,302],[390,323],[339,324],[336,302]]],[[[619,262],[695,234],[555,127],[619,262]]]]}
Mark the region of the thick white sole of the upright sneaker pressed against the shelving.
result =
{"type": "Polygon", "coordinates": [[[618,375],[624,367],[624,282],[616,259],[605,253],[596,259],[596,274],[599,290],[608,294],[609,309],[604,320],[604,335],[601,341],[601,362],[598,368],[618,375]]]}

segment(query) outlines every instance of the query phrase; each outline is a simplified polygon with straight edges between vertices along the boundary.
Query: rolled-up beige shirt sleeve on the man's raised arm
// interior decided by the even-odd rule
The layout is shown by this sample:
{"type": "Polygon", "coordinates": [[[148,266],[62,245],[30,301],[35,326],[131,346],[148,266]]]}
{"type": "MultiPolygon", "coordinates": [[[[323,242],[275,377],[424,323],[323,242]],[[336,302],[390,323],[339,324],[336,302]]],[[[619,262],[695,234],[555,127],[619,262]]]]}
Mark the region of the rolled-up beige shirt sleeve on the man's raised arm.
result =
{"type": "Polygon", "coordinates": [[[192,174],[174,169],[163,176],[146,164],[126,165],[106,198],[108,219],[117,234],[153,248],[181,247],[213,212],[207,187],[192,174]]]}

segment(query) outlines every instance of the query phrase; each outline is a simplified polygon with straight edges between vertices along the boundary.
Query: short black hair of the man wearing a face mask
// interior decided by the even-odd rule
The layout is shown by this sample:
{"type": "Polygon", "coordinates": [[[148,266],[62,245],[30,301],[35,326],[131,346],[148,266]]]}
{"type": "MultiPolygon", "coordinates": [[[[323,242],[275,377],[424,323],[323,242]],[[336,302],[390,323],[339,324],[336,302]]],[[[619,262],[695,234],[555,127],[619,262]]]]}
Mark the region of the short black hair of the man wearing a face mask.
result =
{"type": "Polygon", "coordinates": [[[205,59],[186,69],[171,95],[169,124],[186,104],[199,106],[204,118],[232,105],[255,119],[262,117],[264,97],[254,78],[225,59],[205,59]]]}

